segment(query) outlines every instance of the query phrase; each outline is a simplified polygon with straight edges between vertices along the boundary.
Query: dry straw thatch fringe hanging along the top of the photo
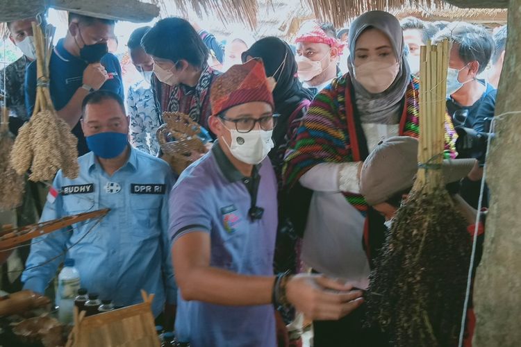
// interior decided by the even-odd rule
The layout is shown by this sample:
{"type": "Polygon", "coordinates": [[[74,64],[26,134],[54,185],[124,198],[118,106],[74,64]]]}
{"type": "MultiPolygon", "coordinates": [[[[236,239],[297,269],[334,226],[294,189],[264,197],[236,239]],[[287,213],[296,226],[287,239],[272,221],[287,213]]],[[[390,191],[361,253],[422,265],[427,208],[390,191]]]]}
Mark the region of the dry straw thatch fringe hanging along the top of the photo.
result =
{"type": "MultiPolygon", "coordinates": [[[[218,17],[226,24],[242,22],[250,29],[264,28],[271,22],[270,30],[286,26],[290,28],[292,19],[317,18],[323,22],[332,22],[337,28],[345,26],[352,19],[369,10],[387,10],[396,12],[408,8],[418,12],[431,14],[433,18],[457,18],[475,22],[486,22],[483,17],[495,21],[494,12],[489,10],[473,10],[468,8],[506,8],[508,0],[151,0],[163,9],[174,8],[176,14],[188,17],[190,11],[198,17],[218,17]],[[449,5],[453,3],[466,9],[458,9],[449,5]],[[270,13],[269,8],[276,9],[270,13]],[[279,8],[281,10],[279,10],[279,8]],[[292,11],[286,12],[286,8],[292,11]],[[450,14],[454,13],[453,17],[450,14]],[[266,17],[266,16],[269,17],[266,17]],[[283,19],[279,17],[284,16],[283,19]],[[268,19],[269,18],[269,19],[268,19]]],[[[162,11],[163,13],[163,11],[162,11]]],[[[172,10],[170,11],[172,13],[172,10]]],[[[504,12],[497,12],[497,20],[504,20],[504,12]]],[[[427,15],[424,15],[427,17],[427,15]]],[[[297,20],[301,22],[301,20],[297,20]]],[[[284,33],[287,35],[287,33],[284,33]]]]}

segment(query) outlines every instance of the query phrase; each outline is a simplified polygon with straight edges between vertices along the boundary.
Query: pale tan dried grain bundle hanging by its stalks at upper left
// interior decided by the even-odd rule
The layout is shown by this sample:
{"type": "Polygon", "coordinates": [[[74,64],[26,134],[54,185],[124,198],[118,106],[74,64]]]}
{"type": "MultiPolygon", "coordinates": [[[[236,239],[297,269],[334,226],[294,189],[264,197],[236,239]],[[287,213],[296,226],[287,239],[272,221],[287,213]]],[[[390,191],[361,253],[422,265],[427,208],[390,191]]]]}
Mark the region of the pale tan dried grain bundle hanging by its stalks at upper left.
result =
{"type": "MultiPolygon", "coordinates": [[[[37,63],[37,90],[31,120],[19,130],[11,160],[18,174],[31,167],[30,180],[52,180],[58,169],[68,178],[78,176],[78,139],[67,123],[58,117],[49,93],[49,60],[51,39],[33,22],[37,63]]],[[[51,35],[48,35],[51,36],[51,35]]]]}

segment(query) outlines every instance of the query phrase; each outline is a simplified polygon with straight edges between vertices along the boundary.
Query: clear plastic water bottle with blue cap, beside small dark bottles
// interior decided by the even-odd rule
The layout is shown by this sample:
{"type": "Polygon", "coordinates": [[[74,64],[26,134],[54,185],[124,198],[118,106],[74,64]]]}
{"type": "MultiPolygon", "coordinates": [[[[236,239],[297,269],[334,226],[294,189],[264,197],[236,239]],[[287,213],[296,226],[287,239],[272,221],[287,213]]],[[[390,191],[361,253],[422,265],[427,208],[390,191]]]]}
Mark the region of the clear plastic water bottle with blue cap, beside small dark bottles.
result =
{"type": "Polygon", "coordinates": [[[58,292],[56,304],[58,305],[58,320],[61,323],[72,323],[74,312],[74,298],[80,289],[80,274],[74,267],[74,259],[65,259],[65,266],[58,275],[58,292]]]}

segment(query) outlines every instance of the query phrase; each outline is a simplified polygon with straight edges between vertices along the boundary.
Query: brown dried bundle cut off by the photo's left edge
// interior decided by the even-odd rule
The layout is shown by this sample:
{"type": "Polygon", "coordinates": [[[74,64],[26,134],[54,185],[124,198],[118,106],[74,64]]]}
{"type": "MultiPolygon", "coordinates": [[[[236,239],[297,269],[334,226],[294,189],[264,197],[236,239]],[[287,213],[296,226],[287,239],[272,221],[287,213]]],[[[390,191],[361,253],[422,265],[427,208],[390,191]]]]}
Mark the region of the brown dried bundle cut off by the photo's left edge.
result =
{"type": "Polygon", "coordinates": [[[16,173],[9,160],[14,142],[9,132],[9,112],[4,107],[0,121],[0,210],[6,211],[17,208],[24,195],[24,177],[16,173]]]}

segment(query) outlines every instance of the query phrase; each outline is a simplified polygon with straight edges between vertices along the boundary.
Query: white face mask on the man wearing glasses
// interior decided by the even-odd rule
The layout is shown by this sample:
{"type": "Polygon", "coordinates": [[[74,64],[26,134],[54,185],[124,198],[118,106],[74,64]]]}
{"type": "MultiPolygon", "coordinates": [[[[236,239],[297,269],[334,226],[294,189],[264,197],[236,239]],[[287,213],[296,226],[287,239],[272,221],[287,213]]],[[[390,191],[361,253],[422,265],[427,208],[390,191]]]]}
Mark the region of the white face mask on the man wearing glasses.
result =
{"type": "Polygon", "coordinates": [[[239,133],[235,129],[227,128],[231,135],[231,145],[227,144],[231,154],[241,162],[256,165],[266,158],[274,144],[273,130],[251,130],[249,133],[239,133]]]}

